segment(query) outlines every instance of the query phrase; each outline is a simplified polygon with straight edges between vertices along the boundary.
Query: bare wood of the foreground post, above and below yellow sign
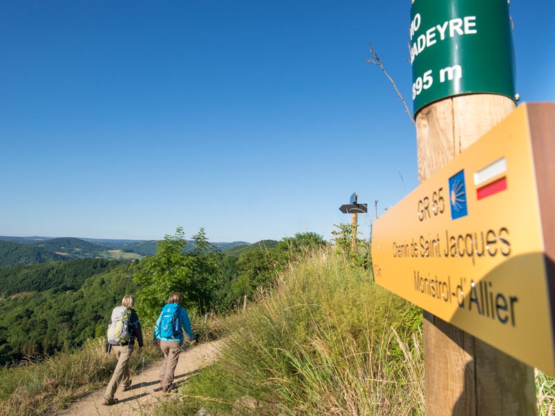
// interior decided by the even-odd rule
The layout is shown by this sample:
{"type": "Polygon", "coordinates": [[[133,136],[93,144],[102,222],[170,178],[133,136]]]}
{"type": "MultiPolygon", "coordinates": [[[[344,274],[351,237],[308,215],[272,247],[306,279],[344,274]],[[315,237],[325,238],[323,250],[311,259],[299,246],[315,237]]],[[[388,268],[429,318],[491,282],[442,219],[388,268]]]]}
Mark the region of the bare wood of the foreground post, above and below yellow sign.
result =
{"type": "MultiPolygon", "coordinates": [[[[512,112],[510,98],[445,98],[416,117],[423,182],[512,112]]],[[[424,313],[426,415],[536,415],[533,369],[431,313],[424,313]]]]}

